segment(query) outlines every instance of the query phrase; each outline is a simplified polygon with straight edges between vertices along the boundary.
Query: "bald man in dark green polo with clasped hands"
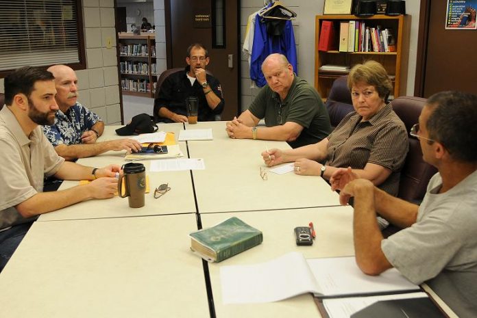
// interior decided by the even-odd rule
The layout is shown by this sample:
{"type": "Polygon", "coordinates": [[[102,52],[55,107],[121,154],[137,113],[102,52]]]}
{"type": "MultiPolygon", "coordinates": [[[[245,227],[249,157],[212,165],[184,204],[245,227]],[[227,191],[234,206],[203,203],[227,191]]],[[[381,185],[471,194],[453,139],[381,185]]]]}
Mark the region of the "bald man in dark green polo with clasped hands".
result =
{"type": "Polygon", "coordinates": [[[321,97],[282,54],[269,55],[262,64],[267,85],[249,109],[227,122],[231,138],[286,141],[293,148],[315,144],[331,132],[330,118],[321,97]],[[257,127],[265,118],[266,127],[257,127]]]}

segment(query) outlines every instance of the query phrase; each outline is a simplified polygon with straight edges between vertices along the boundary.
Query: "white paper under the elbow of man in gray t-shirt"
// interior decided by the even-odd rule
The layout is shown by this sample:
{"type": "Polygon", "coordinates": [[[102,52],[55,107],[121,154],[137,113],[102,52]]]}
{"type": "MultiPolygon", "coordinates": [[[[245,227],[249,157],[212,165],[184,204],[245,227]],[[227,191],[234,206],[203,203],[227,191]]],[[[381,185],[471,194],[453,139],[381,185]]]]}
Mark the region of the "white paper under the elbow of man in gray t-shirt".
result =
{"type": "Polygon", "coordinates": [[[354,256],[308,259],[307,261],[322,294],[326,296],[419,289],[395,268],[388,269],[378,276],[364,274],[356,265],[354,256]]]}

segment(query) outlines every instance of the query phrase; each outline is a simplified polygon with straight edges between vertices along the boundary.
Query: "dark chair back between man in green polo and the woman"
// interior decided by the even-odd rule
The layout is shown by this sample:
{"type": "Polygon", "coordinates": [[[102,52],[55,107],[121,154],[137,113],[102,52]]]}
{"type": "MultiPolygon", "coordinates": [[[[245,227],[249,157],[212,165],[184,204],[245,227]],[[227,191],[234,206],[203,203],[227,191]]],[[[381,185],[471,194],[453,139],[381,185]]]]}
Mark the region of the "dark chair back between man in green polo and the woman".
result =
{"type": "Polygon", "coordinates": [[[334,80],[325,106],[328,110],[332,127],[337,127],[348,113],[354,111],[351,92],[347,87],[347,75],[334,80]]]}

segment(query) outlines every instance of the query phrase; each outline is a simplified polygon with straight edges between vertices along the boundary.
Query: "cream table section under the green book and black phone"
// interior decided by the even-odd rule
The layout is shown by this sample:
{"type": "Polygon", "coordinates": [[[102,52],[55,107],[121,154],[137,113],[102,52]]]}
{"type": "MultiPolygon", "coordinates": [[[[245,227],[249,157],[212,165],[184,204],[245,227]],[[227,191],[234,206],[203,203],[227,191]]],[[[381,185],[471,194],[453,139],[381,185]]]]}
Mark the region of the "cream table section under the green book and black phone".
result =
{"type": "Polygon", "coordinates": [[[281,211],[201,214],[204,228],[236,216],[263,233],[263,242],[221,263],[209,263],[210,282],[217,318],[234,317],[320,317],[311,294],[264,304],[222,303],[220,267],[270,261],[288,252],[302,252],[306,258],[354,255],[352,217],[346,207],[323,207],[281,211]],[[313,246],[297,246],[293,228],[313,222],[317,237],[313,246]]]}

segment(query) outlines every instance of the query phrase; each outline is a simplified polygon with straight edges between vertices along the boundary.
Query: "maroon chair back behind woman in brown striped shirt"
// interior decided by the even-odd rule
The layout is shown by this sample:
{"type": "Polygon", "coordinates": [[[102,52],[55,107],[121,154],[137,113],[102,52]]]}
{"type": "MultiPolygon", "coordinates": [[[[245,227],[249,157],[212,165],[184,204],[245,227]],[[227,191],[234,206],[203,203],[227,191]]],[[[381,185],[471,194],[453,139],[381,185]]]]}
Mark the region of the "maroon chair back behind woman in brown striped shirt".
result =
{"type": "Polygon", "coordinates": [[[437,172],[435,167],[422,159],[419,140],[409,135],[413,124],[419,121],[419,114],[426,105],[426,98],[402,96],[395,98],[391,105],[397,116],[404,122],[409,138],[409,152],[401,170],[397,196],[406,201],[420,202],[426,194],[430,178],[437,172]]]}

